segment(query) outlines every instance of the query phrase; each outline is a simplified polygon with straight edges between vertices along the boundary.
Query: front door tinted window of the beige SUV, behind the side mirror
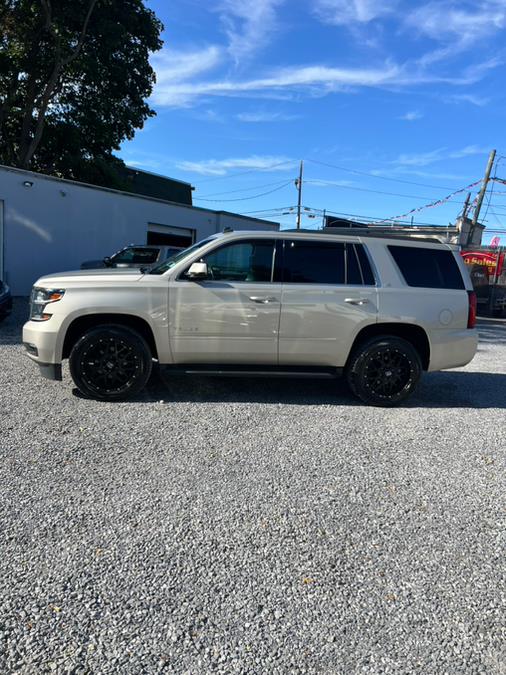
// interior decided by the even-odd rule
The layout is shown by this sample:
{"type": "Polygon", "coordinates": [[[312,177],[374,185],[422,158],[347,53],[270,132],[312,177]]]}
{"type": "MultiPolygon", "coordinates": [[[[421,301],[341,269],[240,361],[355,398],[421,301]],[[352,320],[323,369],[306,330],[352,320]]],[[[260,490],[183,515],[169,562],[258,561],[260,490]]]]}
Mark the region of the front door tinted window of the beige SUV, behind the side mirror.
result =
{"type": "Polygon", "coordinates": [[[209,253],[207,263],[211,279],[221,281],[270,281],[274,242],[270,239],[241,241],[209,253]]]}

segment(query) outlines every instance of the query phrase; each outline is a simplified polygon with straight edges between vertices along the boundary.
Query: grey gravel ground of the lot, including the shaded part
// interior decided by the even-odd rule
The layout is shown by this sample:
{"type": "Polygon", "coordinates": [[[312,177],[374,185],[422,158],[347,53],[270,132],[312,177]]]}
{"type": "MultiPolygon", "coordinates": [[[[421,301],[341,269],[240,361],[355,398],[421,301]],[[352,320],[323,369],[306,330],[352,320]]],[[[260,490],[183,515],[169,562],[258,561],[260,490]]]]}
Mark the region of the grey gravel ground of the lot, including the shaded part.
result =
{"type": "Polygon", "coordinates": [[[506,324],[409,404],[42,380],[0,328],[1,673],[505,673],[506,324]]]}

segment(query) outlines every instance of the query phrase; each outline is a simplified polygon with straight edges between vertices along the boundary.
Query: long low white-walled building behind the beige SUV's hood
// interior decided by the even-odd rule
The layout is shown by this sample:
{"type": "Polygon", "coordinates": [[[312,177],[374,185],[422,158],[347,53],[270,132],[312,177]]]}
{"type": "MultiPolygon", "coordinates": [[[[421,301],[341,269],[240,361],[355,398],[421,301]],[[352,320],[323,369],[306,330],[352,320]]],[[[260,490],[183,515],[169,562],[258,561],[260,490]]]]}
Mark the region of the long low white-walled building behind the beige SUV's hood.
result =
{"type": "Polygon", "coordinates": [[[127,244],[191,244],[225,227],[279,223],[0,166],[0,279],[28,295],[51,272],[79,269],[127,244]]]}

